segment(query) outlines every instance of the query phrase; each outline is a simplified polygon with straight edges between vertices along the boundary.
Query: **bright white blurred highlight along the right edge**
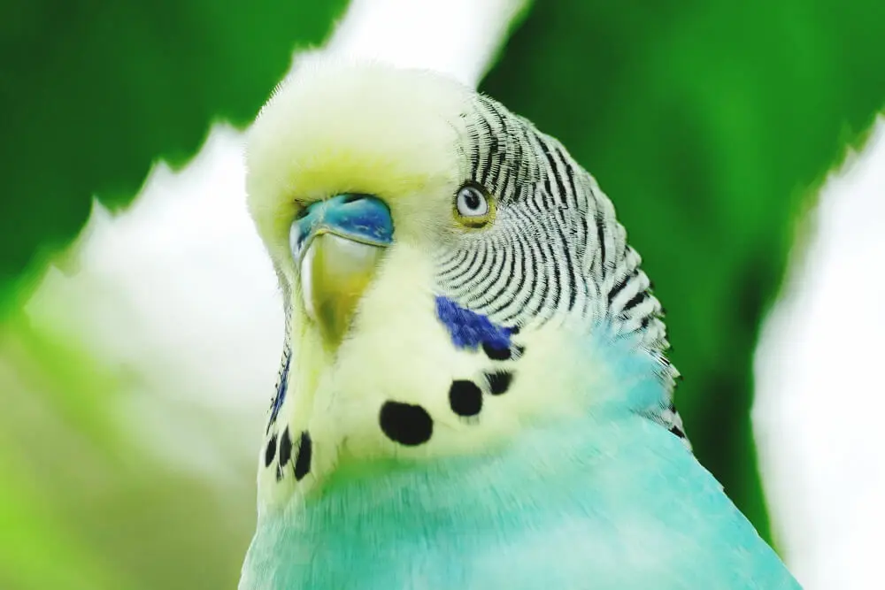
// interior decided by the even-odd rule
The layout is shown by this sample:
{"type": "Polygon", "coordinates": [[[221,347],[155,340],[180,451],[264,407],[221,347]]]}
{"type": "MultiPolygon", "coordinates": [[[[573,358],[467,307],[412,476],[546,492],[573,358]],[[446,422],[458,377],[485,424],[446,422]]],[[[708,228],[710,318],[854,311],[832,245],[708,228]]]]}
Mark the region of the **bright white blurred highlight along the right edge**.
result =
{"type": "Polygon", "coordinates": [[[805,590],[885,586],[885,119],[827,180],[756,351],[753,422],[805,590]]]}

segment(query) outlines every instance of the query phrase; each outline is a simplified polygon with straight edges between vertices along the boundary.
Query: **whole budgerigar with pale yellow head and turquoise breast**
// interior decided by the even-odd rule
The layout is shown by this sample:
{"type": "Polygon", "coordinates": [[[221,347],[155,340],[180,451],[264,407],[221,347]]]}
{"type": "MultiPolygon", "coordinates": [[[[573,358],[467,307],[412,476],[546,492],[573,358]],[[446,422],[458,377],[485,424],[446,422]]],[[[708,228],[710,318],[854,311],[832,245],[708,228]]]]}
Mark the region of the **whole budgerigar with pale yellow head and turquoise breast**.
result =
{"type": "Polygon", "coordinates": [[[247,166],[286,332],[241,590],[799,588],[692,455],[660,304],[559,142],[319,60],[247,166]]]}

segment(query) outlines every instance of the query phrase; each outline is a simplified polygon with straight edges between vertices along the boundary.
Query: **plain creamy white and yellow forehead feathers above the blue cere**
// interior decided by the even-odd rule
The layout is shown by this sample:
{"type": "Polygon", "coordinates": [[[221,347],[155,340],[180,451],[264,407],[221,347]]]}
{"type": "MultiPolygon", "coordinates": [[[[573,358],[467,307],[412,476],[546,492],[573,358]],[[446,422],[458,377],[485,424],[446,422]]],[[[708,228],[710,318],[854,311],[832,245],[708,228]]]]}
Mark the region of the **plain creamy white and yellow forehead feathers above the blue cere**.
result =
{"type": "Polygon", "coordinates": [[[473,90],[440,74],[310,60],[273,93],[249,134],[249,208],[284,256],[295,202],[342,192],[397,199],[457,182],[473,90]]]}

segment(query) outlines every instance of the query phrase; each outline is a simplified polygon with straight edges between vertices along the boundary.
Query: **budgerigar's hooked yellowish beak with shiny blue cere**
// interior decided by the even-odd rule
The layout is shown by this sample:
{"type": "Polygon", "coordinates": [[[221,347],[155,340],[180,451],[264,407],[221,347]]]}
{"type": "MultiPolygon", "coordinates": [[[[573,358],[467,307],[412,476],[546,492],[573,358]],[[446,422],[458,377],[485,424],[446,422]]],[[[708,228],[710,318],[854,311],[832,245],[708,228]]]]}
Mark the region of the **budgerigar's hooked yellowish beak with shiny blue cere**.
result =
{"type": "Polygon", "coordinates": [[[329,349],[350,329],[359,299],[393,240],[393,219],[372,195],[336,195],[312,203],[293,223],[289,245],[307,317],[329,349]]]}

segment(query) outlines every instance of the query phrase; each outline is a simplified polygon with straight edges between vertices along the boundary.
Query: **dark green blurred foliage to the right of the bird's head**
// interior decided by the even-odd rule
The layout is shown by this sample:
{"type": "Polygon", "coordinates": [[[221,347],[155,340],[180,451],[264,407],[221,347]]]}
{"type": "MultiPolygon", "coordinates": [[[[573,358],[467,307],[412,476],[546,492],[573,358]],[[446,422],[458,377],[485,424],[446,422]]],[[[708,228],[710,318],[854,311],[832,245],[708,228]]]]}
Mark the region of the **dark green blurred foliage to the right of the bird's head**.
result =
{"type": "Polygon", "coordinates": [[[883,31],[878,0],[538,2],[483,88],[612,196],[696,455],[765,536],[751,352],[804,197],[885,105],[883,31]]]}

